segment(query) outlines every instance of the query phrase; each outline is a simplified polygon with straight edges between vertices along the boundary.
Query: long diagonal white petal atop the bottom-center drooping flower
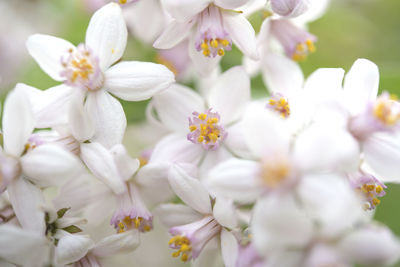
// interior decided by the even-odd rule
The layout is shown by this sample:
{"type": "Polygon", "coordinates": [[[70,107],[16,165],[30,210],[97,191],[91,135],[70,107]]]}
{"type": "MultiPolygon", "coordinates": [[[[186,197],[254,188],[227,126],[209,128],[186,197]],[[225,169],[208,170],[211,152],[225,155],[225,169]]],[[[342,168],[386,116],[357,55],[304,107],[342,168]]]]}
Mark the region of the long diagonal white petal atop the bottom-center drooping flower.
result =
{"type": "Polygon", "coordinates": [[[210,214],[210,196],[199,180],[189,176],[181,167],[174,165],[168,174],[168,181],[174,192],[187,205],[202,214],[210,214]]]}

